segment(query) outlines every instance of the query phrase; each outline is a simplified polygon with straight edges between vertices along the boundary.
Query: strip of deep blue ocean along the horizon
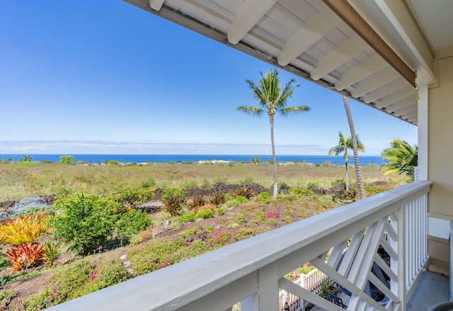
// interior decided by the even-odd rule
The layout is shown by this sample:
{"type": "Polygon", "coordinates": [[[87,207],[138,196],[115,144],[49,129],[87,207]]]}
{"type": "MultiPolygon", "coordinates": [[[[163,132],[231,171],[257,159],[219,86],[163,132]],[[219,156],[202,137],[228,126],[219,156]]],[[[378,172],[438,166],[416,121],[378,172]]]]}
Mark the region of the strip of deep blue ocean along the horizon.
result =
{"type": "MultiPolygon", "coordinates": [[[[198,162],[207,160],[224,160],[234,162],[250,162],[251,159],[259,158],[263,162],[272,159],[272,155],[244,155],[244,154],[0,154],[0,159],[12,159],[18,162],[24,156],[30,155],[33,162],[50,161],[59,162],[61,155],[71,155],[74,160],[86,162],[88,164],[103,163],[106,160],[116,160],[122,163],[143,163],[143,162],[198,162]]],[[[277,155],[277,162],[309,162],[322,164],[331,162],[333,164],[345,164],[345,159],[341,156],[315,156],[315,155],[277,155]]],[[[360,165],[374,163],[378,166],[384,164],[384,160],[379,156],[360,156],[360,165]]],[[[350,157],[350,164],[354,164],[354,157],[350,157]]]]}

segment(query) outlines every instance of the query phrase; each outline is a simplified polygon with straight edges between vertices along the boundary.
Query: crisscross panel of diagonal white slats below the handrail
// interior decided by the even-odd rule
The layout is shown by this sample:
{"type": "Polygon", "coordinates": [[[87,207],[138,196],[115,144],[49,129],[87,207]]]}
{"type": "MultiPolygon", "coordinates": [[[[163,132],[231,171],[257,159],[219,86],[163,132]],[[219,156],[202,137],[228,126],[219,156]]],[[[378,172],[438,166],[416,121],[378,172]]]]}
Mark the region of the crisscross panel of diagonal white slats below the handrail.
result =
{"type": "MultiPolygon", "coordinates": [[[[310,261],[343,291],[350,292],[348,310],[398,309],[394,294],[397,291],[390,288],[390,284],[398,286],[397,219],[396,212],[386,215],[310,261]],[[373,298],[378,294],[380,298],[385,295],[380,302],[373,298]]],[[[323,309],[344,310],[345,306],[340,307],[285,278],[279,280],[279,286],[323,309]]]]}

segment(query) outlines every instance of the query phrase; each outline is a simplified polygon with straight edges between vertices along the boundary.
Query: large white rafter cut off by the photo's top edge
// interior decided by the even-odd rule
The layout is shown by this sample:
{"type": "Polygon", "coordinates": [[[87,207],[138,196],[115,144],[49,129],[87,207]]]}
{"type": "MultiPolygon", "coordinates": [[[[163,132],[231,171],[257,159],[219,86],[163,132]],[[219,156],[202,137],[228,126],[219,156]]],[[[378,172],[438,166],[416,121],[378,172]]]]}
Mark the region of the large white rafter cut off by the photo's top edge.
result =
{"type": "Polygon", "coordinates": [[[228,40],[236,44],[248,33],[251,28],[269,11],[276,0],[248,0],[241,10],[234,16],[231,28],[228,30],[228,40]]]}

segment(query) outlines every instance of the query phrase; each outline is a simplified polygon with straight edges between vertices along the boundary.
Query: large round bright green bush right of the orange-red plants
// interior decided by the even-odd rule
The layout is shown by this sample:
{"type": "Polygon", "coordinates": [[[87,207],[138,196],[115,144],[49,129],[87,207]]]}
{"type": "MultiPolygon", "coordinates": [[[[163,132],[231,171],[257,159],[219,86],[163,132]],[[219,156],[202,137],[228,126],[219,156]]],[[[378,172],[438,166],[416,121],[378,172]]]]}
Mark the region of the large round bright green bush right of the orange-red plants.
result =
{"type": "Polygon", "coordinates": [[[52,220],[55,237],[61,237],[76,254],[88,254],[103,244],[118,215],[104,197],[94,193],[58,196],[55,208],[62,213],[52,220]]]}

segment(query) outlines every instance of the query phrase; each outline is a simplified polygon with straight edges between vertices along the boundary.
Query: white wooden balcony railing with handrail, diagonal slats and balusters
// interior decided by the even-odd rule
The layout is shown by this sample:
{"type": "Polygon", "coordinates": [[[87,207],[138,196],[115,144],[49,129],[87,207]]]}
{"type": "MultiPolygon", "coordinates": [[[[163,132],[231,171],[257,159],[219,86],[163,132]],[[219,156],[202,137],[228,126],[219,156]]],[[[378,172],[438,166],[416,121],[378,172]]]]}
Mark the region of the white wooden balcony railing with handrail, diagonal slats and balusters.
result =
{"type": "Polygon", "coordinates": [[[430,185],[415,181],[50,310],[224,311],[241,301],[243,311],[276,311],[280,289],[323,309],[343,310],[283,277],[306,262],[352,293],[348,310],[405,310],[428,261],[430,185]],[[382,248],[387,261],[378,254],[382,248]],[[372,272],[376,265],[388,282],[372,272]],[[384,305],[370,297],[369,286],[386,295],[384,305]]]}

